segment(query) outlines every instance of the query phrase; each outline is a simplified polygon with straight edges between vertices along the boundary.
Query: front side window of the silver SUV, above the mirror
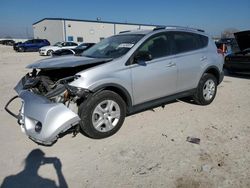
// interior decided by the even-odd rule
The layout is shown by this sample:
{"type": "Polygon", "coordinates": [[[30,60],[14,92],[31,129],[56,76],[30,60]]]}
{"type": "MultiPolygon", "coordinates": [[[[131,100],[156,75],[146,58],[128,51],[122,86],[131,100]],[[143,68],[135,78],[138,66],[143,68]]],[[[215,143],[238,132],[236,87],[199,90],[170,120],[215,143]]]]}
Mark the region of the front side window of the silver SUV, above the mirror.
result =
{"type": "Polygon", "coordinates": [[[160,34],[148,39],[140,48],[139,52],[149,52],[153,59],[171,54],[170,40],[166,34],[160,34]]]}

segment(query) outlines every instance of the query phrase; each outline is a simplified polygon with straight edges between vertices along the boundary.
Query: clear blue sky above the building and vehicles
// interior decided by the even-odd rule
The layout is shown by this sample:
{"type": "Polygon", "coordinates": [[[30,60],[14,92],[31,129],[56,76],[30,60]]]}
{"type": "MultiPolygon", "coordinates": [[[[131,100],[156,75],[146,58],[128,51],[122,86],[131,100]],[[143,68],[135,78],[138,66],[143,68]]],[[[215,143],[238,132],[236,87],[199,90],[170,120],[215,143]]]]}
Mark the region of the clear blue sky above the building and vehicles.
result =
{"type": "Polygon", "coordinates": [[[228,28],[250,30],[250,0],[0,0],[0,37],[33,36],[43,18],[178,25],[220,36],[228,28]]]}

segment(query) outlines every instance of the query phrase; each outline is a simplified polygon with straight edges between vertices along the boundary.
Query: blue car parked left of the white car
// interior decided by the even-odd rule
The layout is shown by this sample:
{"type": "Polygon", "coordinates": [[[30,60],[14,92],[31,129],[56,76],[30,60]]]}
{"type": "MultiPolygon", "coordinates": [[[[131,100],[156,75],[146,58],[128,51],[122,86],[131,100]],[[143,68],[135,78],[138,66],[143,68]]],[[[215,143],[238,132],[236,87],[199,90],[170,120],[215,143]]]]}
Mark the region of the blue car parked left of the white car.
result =
{"type": "Polygon", "coordinates": [[[46,39],[31,39],[23,43],[17,43],[13,49],[17,52],[37,52],[41,47],[50,45],[46,39]]]}

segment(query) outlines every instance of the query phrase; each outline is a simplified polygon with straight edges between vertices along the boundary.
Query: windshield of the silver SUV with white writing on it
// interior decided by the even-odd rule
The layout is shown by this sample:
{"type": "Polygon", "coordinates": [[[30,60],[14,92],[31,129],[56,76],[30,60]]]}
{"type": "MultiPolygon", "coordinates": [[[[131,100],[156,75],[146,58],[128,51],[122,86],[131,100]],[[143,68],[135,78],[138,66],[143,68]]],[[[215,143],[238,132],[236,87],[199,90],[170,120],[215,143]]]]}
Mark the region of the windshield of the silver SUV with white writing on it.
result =
{"type": "Polygon", "coordinates": [[[92,58],[118,58],[126,54],[144,35],[115,35],[102,40],[82,53],[92,58]]]}

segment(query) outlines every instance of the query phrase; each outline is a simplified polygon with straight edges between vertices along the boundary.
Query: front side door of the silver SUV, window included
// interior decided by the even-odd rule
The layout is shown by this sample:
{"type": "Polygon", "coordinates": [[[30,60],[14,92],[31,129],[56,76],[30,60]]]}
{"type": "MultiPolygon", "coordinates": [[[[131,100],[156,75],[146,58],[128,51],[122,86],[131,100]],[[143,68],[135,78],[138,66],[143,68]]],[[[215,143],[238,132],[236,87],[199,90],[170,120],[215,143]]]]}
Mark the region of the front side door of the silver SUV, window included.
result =
{"type": "Polygon", "coordinates": [[[153,59],[131,65],[134,104],[175,93],[177,67],[171,56],[171,39],[168,34],[150,37],[138,51],[149,52],[153,59]]]}

